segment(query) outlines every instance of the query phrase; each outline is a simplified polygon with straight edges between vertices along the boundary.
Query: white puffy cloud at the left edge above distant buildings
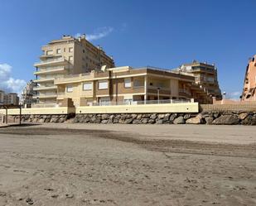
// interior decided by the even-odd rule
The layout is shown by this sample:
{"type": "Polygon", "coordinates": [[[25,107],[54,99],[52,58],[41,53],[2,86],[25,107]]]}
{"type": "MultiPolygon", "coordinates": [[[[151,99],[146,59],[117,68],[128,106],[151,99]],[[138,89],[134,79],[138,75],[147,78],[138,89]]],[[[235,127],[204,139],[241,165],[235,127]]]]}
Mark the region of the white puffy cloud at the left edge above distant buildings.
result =
{"type": "Polygon", "coordinates": [[[0,90],[7,93],[22,93],[22,89],[26,86],[23,79],[12,78],[12,66],[0,64],[0,90]]]}

